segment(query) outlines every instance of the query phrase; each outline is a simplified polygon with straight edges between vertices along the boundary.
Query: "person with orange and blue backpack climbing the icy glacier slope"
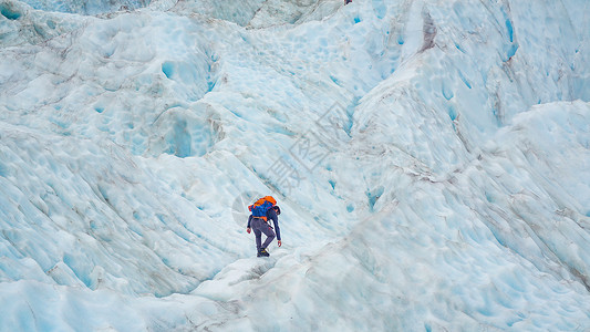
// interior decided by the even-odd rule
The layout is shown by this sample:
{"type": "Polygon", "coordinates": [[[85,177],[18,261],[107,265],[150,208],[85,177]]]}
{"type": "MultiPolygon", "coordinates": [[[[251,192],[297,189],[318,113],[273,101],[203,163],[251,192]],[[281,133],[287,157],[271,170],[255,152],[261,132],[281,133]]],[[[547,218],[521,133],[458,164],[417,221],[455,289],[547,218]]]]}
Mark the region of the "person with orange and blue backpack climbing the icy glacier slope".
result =
{"type": "Polygon", "coordinates": [[[272,242],[275,237],[277,238],[277,243],[280,247],[281,242],[281,230],[279,228],[279,218],[281,209],[277,205],[277,200],[272,196],[265,196],[258,199],[255,204],[248,207],[252,212],[248,217],[248,226],[246,231],[250,234],[253,230],[256,237],[256,250],[257,257],[268,257],[267,248],[272,242]],[[269,225],[268,220],[271,219],[275,224],[275,230],[269,225]],[[276,234],[275,234],[276,231],[276,234]],[[262,234],[267,236],[267,239],[262,243],[262,234]]]}

